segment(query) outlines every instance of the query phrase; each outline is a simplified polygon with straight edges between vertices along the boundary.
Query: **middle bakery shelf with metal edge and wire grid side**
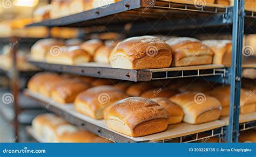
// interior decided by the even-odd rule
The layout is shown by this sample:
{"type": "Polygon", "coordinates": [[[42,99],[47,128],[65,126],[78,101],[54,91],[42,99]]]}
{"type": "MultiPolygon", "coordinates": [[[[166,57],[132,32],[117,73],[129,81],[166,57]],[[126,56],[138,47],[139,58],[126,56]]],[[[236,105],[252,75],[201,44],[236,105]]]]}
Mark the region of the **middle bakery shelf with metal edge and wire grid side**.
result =
{"type": "Polygon", "coordinates": [[[226,74],[226,69],[222,65],[202,65],[161,69],[131,70],[111,68],[110,65],[102,65],[93,62],[84,63],[83,65],[79,66],[57,65],[32,60],[29,60],[28,62],[40,69],[52,72],[62,72],[77,74],[81,76],[128,81],[150,81],[194,76],[225,76],[226,74]]]}

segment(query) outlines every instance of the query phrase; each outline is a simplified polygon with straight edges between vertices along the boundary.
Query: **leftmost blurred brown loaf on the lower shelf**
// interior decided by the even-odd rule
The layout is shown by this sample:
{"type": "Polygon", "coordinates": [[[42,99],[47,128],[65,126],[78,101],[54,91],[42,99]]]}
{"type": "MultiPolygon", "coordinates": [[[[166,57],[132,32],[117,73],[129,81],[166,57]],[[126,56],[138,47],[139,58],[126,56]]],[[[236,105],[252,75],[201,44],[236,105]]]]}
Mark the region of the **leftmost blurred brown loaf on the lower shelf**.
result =
{"type": "Polygon", "coordinates": [[[28,81],[28,89],[32,92],[39,93],[39,88],[44,82],[55,79],[56,74],[52,73],[37,73],[28,81]]]}

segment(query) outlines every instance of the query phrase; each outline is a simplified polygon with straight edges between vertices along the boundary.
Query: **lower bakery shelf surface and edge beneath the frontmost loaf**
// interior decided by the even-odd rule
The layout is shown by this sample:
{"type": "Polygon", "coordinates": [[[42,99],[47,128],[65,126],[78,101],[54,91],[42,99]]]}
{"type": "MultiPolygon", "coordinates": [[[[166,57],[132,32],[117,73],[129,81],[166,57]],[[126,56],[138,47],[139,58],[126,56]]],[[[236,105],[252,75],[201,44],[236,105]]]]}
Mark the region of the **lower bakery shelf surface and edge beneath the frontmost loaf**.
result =
{"type": "Polygon", "coordinates": [[[104,120],[95,120],[76,112],[72,104],[58,104],[49,98],[30,92],[29,90],[25,90],[24,94],[36,99],[39,102],[38,104],[62,116],[71,124],[80,126],[83,129],[114,142],[191,142],[214,136],[222,136],[224,126],[226,125],[226,123],[221,120],[199,125],[180,123],[169,126],[164,132],[133,138],[108,129],[104,120]]]}

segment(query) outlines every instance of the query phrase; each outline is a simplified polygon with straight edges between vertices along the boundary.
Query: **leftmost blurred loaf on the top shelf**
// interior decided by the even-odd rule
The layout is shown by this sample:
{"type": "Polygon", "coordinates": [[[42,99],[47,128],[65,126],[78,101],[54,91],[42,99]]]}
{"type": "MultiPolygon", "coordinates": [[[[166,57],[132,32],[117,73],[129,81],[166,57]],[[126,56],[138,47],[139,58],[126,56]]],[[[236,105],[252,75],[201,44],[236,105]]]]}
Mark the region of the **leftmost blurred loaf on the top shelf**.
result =
{"type": "Polygon", "coordinates": [[[50,9],[50,4],[37,8],[33,12],[33,20],[35,22],[42,22],[42,20],[50,19],[50,9]]]}

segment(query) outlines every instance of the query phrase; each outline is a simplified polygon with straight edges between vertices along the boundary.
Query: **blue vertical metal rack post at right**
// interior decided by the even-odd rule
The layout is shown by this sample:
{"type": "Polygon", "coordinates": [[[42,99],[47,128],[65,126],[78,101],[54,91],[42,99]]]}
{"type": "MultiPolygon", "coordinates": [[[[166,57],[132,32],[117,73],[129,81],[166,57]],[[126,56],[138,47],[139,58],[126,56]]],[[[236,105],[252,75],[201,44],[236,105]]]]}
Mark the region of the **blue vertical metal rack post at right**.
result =
{"type": "Polygon", "coordinates": [[[235,0],[233,8],[232,66],[230,68],[230,117],[229,125],[226,132],[226,140],[228,142],[238,142],[239,137],[240,90],[242,73],[242,39],[244,37],[244,17],[244,0],[235,0]]]}

